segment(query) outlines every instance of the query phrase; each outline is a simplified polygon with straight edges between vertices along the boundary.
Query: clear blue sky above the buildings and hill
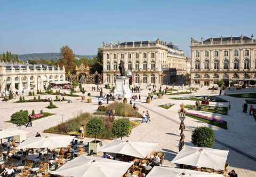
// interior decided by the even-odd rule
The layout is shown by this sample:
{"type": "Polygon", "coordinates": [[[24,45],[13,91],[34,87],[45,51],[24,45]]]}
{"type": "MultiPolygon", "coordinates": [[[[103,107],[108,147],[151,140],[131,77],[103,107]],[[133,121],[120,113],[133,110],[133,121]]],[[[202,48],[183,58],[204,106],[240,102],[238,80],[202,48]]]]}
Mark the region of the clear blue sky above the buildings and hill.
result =
{"type": "Polygon", "coordinates": [[[0,53],[96,54],[102,42],[171,41],[190,56],[190,38],[256,35],[256,1],[0,0],[0,53]]]}

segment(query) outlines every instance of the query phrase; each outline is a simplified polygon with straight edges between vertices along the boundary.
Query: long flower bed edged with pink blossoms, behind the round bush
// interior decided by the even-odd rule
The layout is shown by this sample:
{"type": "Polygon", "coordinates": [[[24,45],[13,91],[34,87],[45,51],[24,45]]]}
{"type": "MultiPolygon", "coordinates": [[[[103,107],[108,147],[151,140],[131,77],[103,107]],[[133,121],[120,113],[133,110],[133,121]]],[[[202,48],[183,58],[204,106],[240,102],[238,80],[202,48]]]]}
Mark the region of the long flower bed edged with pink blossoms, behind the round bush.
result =
{"type": "Polygon", "coordinates": [[[199,114],[195,114],[192,112],[187,112],[187,116],[191,117],[191,118],[195,118],[197,120],[201,120],[202,122],[211,124],[211,125],[215,125],[224,129],[228,129],[227,128],[227,121],[222,120],[222,119],[217,119],[217,118],[213,118],[213,117],[207,117],[204,115],[199,115],[199,114]]]}

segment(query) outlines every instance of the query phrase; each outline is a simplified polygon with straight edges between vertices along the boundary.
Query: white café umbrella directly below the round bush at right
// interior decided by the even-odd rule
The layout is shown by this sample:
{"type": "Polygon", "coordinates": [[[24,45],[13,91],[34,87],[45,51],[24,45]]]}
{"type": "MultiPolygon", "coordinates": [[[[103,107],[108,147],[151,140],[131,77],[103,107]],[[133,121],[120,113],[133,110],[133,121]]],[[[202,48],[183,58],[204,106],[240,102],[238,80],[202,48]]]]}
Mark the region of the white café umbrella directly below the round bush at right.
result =
{"type": "Polygon", "coordinates": [[[228,150],[185,146],[172,163],[225,170],[228,150]]]}

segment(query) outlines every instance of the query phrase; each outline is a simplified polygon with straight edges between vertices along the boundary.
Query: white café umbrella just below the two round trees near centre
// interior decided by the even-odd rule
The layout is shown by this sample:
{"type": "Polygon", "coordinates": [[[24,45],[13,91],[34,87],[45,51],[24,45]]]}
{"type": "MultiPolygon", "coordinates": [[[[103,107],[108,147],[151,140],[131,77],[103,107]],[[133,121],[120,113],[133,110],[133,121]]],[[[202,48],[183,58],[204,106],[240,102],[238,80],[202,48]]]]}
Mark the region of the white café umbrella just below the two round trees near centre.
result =
{"type": "Polygon", "coordinates": [[[145,158],[157,148],[157,143],[113,140],[100,147],[98,152],[110,152],[138,158],[145,158]]]}

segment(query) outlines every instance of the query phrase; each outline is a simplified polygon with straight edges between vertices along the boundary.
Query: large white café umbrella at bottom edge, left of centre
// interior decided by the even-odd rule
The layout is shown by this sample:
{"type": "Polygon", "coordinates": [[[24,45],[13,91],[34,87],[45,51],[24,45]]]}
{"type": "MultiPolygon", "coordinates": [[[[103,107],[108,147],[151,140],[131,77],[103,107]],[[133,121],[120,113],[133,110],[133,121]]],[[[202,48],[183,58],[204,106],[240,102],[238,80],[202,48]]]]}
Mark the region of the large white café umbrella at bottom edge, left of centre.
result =
{"type": "Polygon", "coordinates": [[[51,173],[74,177],[121,177],[131,165],[132,163],[81,155],[51,173]]]}

